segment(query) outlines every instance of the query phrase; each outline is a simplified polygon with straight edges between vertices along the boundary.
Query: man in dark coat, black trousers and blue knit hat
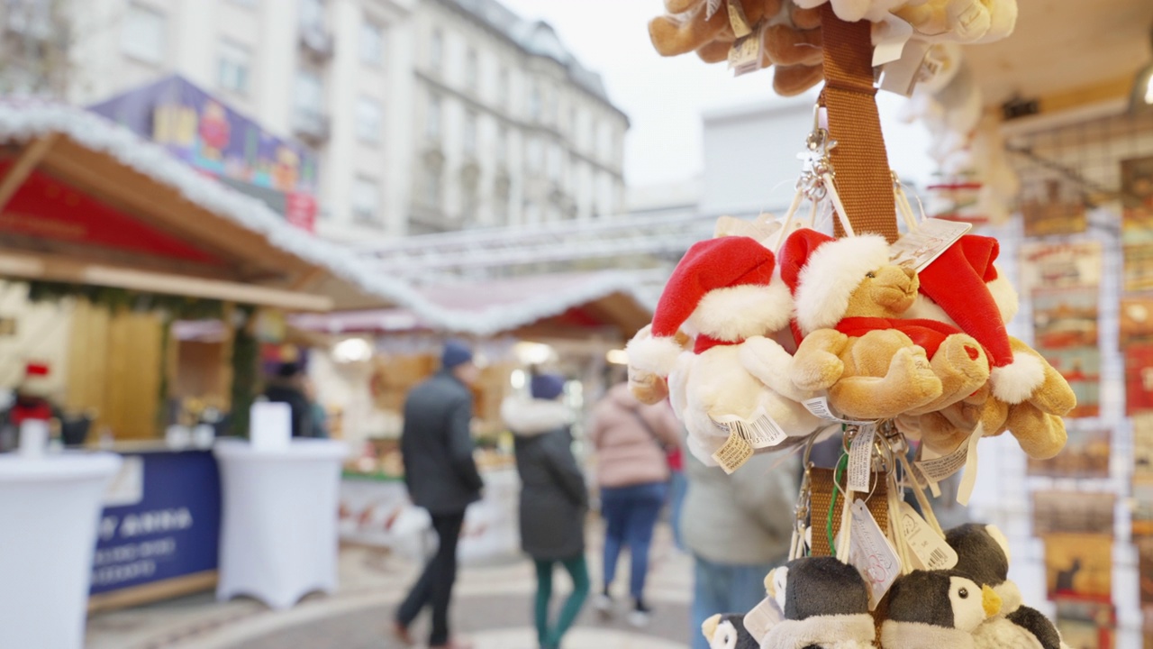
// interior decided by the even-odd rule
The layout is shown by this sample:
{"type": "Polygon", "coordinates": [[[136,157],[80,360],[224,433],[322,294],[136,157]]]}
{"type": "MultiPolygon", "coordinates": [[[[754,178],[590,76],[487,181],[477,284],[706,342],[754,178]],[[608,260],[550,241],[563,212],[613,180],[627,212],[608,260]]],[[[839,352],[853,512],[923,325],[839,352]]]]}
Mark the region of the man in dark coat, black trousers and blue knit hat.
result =
{"type": "Polygon", "coordinates": [[[413,503],[432,516],[439,546],[397,611],[393,631],[401,641],[412,643],[408,627],[431,605],[430,649],[469,647],[449,635],[449,603],[457,581],[457,539],[465,509],[480,500],[484,486],[473,460],[469,432],[473,394],[468,388],[477,378],[472,350],[450,341],[440,357],[440,372],[413,388],[405,400],[400,435],[405,484],[413,503]]]}

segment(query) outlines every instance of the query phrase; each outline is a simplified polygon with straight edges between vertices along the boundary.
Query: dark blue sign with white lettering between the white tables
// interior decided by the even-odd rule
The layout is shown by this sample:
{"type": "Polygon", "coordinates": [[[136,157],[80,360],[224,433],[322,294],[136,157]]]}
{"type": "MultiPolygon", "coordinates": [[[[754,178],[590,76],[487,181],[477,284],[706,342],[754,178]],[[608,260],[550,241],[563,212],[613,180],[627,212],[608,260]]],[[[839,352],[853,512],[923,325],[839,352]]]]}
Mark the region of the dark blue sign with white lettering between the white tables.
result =
{"type": "Polygon", "coordinates": [[[100,515],[91,592],[214,570],[219,537],[211,452],[128,455],[100,515]]]}

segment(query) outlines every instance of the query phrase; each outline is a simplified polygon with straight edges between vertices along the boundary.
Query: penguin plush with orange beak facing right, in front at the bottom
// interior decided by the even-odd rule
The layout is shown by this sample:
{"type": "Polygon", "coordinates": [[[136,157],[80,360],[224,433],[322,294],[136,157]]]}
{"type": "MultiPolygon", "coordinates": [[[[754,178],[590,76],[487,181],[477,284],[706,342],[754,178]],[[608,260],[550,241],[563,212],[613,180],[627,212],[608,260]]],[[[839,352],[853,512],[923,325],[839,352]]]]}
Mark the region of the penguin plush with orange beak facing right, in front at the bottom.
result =
{"type": "Polygon", "coordinates": [[[889,590],[884,649],[974,649],[973,631],[1001,610],[989,587],[951,570],[913,570],[889,590]]]}

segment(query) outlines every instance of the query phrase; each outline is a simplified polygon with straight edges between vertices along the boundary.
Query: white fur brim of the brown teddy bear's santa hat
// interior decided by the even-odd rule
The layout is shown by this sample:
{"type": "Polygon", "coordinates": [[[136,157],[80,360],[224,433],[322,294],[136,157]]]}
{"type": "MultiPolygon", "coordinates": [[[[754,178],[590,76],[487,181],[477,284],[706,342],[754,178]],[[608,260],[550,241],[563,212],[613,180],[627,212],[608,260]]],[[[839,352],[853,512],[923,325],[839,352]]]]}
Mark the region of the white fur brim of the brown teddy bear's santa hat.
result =
{"type": "Polygon", "coordinates": [[[889,244],[877,234],[845,237],[819,246],[797,283],[797,323],[802,334],[836,326],[865,274],[889,263],[889,244]]]}

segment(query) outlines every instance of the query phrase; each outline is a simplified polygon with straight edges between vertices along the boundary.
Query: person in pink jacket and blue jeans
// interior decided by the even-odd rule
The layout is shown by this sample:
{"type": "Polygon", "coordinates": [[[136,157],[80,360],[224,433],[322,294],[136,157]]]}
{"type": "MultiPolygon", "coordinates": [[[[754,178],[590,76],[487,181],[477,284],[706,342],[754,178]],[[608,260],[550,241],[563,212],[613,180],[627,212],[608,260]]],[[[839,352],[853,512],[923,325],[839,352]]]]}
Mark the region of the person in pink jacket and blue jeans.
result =
{"type": "Polygon", "coordinates": [[[604,588],[594,599],[602,614],[612,611],[609,588],[617,574],[620,550],[632,554],[628,622],[648,624],[645,577],[648,574],[653,528],[665,501],[669,461],[665,449],[680,443],[680,423],[668,402],[642,405],[627,383],[619,383],[593,411],[589,441],[596,448],[601,515],[605,522],[604,588]]]}

